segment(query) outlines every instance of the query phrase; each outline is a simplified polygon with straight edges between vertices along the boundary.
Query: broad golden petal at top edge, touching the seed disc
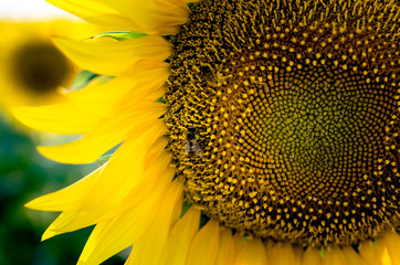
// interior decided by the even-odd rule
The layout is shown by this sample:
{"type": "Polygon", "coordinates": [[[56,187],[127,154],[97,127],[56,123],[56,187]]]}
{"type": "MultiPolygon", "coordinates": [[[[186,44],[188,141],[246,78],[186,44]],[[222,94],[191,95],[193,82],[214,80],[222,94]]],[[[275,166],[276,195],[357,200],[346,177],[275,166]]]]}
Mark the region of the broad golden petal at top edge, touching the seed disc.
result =
{"type": "Polygon", "coordinates": [[[179,25],[185,24],[190,10],[182,0],[98,0],[137,23],[140,32],[170,35],[178,33],[179,25]]]}

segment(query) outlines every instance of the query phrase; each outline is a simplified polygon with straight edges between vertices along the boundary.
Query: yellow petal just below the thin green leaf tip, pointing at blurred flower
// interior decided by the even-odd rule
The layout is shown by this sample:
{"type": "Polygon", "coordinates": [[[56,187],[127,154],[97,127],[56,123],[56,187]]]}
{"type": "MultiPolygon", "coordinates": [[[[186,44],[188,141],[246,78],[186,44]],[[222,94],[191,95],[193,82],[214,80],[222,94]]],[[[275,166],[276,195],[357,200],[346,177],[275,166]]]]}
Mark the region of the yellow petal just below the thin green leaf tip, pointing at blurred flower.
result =
{"type": "Polygon", "coordinates": [[[104,75],[130,73],[140,60],[164,61],[172,49],[171,43],[158,35],[99,43],[56,38],[54,44],[82,68],[104,75]]]}

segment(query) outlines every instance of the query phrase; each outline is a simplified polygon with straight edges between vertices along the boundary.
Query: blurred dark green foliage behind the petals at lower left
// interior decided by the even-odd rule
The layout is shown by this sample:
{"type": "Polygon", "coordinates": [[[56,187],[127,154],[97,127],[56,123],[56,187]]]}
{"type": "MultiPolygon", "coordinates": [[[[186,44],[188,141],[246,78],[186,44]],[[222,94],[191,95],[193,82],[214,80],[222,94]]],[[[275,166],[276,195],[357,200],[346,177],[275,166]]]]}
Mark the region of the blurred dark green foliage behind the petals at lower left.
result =
{"type": "MultiPolygon", "coordinates": [[[[92,229],[41,242],[57,215],[25,209],[29,200],[78,180],[97,165],[69,166],[41,157],[24,132],[0,118],[0,265],[76,264],[92,229]]],[[[104,264],[124,264],[118,257],[104,264]]]]}

